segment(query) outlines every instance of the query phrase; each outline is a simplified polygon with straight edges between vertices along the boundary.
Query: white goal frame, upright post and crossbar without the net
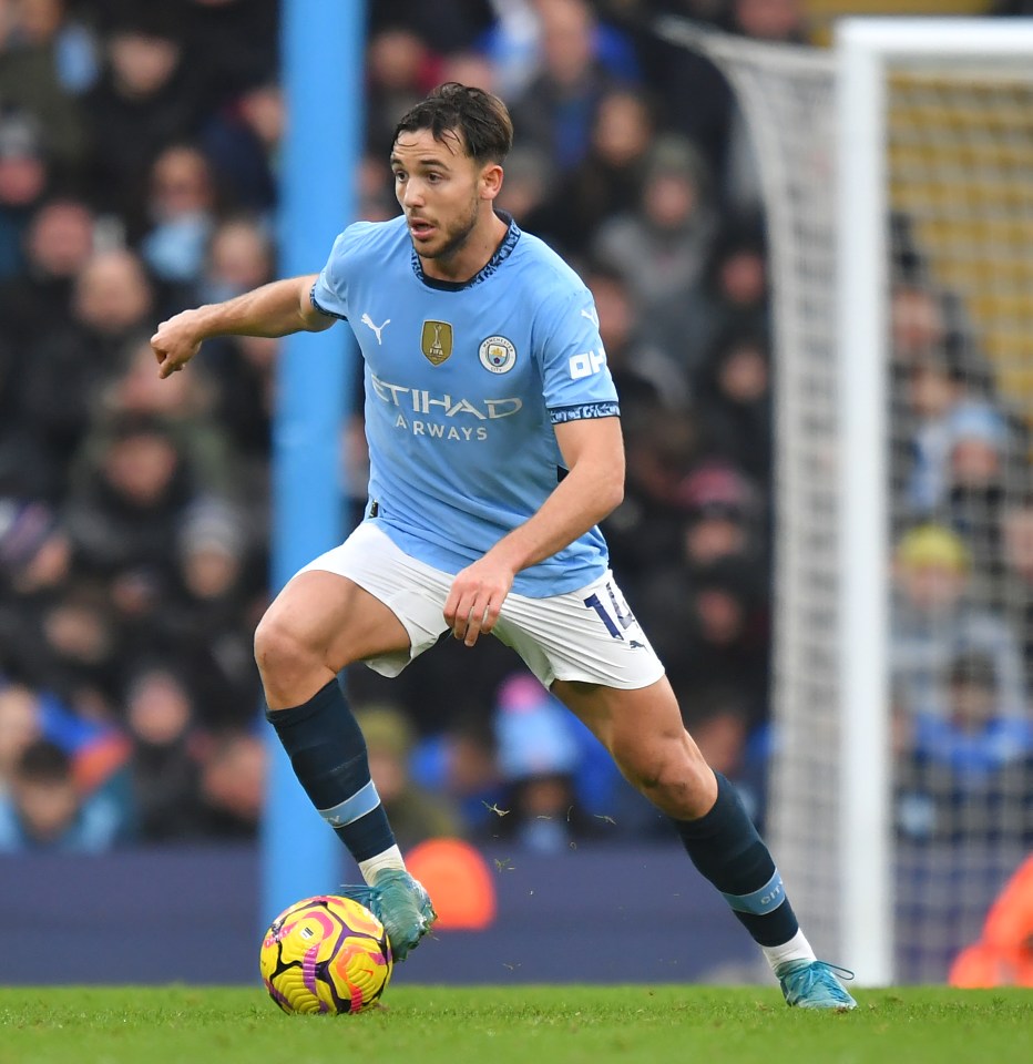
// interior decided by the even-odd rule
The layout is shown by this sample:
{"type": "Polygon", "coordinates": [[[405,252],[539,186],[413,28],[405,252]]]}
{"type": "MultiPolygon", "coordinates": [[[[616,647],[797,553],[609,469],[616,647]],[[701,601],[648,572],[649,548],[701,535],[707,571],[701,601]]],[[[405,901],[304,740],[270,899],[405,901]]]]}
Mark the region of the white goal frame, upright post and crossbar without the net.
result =
{"type": "Polygon", "coordinates": [[[894,969],[887,73],[894,59],[982,58],[1033,61],[1033,19],[847,18],[836,25],[840,944],[870,986],[892,983],[894,969]]]}

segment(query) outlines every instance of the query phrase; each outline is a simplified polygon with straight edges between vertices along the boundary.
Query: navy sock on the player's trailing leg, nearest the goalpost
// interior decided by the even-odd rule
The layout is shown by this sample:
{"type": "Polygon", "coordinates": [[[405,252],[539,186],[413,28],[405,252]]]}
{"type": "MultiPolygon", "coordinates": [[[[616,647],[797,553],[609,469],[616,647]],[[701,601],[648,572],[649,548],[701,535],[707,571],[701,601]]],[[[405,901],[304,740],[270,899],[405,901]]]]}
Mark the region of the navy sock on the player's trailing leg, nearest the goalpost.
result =
{"type": "Polygon", "coordinates": [[[800,924],[781,876],[735,787],[717,776],[717,801],[698,820],[675,820],[693,864],[725,896],[759,945],[788,942],[800,924]]]}

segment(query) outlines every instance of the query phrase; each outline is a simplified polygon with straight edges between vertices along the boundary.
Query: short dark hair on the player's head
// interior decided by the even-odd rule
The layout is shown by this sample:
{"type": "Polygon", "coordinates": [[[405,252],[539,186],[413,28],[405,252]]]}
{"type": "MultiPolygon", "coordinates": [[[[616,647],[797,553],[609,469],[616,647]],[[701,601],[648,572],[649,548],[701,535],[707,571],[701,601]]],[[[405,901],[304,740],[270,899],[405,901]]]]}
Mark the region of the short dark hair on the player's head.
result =
{"type": "Polygon", "coordinates": [[[478,163],[501,163],[513,146],[513,121],[505,104],[483,89],[449,81],[402,115],[400,133],[430,130],[436,141],[461,134],[466,152],[478,163]]]}

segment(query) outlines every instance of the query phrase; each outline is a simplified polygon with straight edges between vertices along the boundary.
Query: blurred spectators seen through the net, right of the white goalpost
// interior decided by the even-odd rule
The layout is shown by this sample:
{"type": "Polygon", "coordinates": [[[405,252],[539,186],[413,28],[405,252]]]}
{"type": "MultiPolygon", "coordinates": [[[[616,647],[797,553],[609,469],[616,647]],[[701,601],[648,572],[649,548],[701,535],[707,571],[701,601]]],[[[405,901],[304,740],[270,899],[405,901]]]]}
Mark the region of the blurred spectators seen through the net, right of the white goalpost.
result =
{"type": "Polygon", "coordinates": [[[1030,847],[1030,427],[910,228],[894,219],[890,293],[897,827],[1030,847]]]}

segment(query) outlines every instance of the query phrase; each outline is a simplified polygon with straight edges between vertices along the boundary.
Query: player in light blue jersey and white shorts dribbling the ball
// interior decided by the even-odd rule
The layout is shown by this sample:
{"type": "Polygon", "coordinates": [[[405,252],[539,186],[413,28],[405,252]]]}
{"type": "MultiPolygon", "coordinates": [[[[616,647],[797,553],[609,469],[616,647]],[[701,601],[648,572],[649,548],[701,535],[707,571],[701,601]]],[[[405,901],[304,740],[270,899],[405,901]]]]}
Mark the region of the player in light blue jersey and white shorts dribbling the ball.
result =
{"type": "Polygon", "coordinates": [[[221,335],[344,319],[362,350],[368,508],[258,625],[268,718],[366,880],[345,892],[405,958],[434,912],[406,871],[337,676],[358,661],[395,676],[448,630],[467,646],[491,633],[671,817],[786,1001],[852,1009],[735,789],[686,733],[608,570],[596,525],[623,494],[617,396],[587,289],[494,209],[511,143],[498,98],[441,85],[395,131],[399,217],[346,228],[318,275],[185,310],[151,340],[162,377],[221,335]]]}

